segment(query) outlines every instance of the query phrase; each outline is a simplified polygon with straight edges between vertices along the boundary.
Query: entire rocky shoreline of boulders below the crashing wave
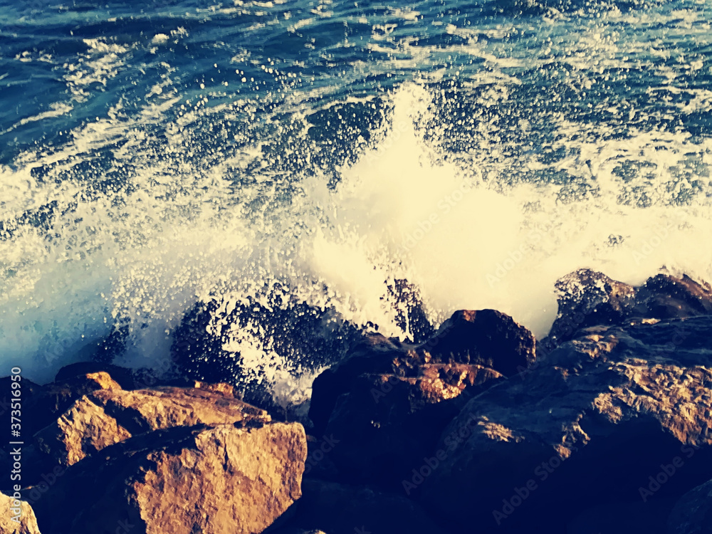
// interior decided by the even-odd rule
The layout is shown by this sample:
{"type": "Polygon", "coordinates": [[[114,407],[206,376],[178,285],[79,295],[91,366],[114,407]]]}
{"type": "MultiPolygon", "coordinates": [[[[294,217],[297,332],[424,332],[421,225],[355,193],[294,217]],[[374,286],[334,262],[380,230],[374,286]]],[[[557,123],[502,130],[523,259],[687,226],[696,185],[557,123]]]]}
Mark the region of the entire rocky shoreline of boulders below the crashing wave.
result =
{"type": "Polygon", "coordinates": [[[107,363],[23,379],[0,533],[711,532],[711,286],[556,288],[544,340],[496,310],[417,344],[363,335],[303,422],[107,363]]]}

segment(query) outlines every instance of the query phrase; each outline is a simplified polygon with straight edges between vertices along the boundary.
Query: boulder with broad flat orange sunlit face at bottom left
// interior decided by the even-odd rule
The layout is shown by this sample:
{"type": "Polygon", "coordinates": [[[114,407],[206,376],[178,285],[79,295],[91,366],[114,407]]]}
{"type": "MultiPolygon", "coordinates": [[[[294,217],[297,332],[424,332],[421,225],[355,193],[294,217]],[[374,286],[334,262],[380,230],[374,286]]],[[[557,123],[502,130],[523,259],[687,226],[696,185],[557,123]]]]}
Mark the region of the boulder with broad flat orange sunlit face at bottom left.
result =
{"type": "Polygon", "coordinates": [[[36,504],[52,533],[261,533],[300,495],[300,424],[193,426],[137,436],[72,466],[36,504]],[[259,427],[255,427],[259,426],[259,427]]]}

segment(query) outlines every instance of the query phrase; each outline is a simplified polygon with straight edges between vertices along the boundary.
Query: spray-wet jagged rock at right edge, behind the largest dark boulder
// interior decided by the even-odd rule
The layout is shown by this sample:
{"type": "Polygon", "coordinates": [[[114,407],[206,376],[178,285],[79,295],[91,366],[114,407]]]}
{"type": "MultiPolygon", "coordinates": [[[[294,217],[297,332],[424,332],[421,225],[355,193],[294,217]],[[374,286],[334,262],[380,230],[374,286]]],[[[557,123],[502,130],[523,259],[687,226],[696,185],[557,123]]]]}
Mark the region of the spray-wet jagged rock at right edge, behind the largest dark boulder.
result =
{"type": "Polygon", "coordinates": [[[712,313],[712,288],[689,276],[659,274],[633,287],[591,269],[556,282],[558,313],[543,346],[553,348],[595,325],[623,325],[631,318],[672,319],[712,313]]]}

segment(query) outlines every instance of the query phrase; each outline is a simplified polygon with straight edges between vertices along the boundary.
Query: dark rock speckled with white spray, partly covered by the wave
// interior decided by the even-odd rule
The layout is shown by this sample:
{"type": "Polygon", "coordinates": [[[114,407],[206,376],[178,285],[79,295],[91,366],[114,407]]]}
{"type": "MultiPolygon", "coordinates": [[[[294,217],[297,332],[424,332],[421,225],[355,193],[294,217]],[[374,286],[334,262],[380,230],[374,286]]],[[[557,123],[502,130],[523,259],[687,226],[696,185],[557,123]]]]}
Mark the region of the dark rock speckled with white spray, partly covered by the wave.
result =
{"type": "Polygon", "coordinates": [[[317,370],[341,359],[360,338],[360,330],[340,318],[334,310],[322,310],[292,298],[286,287],[275,285],[262,298],[246,302],[211,300],[198,303],[174,332],[172,359],[179,374],[207,382],[229,382],[244,399],[273,413],[279,409],[271,394],[271,384],[263,370],[245,367],[235,345],[234,331],[260,331],[279,365],[290,362],[295,368],[317,370]]]}

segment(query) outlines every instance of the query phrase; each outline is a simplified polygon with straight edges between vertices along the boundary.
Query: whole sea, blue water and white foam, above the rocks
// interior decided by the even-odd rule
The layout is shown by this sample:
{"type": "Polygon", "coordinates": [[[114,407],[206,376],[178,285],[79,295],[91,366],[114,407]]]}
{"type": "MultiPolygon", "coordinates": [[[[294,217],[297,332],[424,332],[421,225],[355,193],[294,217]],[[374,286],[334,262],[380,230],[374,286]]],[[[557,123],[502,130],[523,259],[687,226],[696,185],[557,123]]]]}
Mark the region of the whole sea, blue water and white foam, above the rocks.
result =
{"type": "Polygon", "coordinates": [[[407,278],[434,323],[545,335],[575,268],[712,278],[711,1],[94,4],[0,0],[0,362],[31,378],[118,325],[165,361],[194,303],[275,284],[406,335],[407,278]]]}

